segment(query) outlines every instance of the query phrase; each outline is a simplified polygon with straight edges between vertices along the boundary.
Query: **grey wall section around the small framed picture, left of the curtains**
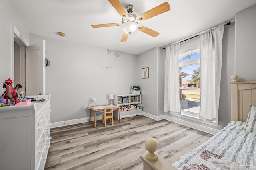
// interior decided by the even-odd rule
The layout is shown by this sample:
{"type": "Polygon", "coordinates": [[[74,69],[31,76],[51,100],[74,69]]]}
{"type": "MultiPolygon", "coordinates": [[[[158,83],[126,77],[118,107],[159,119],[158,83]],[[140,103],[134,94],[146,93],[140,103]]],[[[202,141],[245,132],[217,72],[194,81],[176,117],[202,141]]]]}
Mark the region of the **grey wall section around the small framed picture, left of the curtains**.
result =
{"type": "Polygon", "coordinates": [[[164,115],[164,51],[155,47],[138,55],[137,81],[142,89],[143,112],[154,116],[164,115]],[[149,67],[149,78],[142,79],[141,69],[149,67]]]}

